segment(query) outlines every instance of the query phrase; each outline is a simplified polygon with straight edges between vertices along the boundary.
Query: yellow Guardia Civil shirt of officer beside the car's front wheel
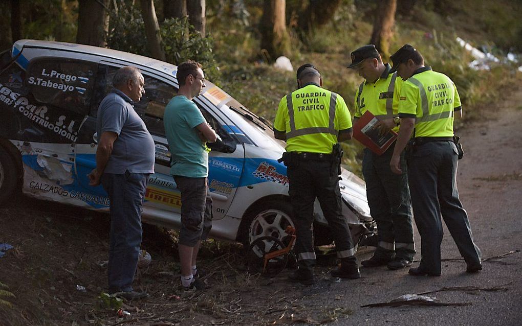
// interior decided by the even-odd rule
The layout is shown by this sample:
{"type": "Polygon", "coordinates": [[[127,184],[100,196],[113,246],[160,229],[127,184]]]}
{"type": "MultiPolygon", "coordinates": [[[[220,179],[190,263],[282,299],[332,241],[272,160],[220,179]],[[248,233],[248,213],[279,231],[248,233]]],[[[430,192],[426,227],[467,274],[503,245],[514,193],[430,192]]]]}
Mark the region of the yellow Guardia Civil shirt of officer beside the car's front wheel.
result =
{"type": "Polygon", "coordinates": [[[286,132],[288,152],[329,154],[339,130],[351,127],[345,100],[315,83],[284,96],[274,122],[274,129],[286,132]]]}

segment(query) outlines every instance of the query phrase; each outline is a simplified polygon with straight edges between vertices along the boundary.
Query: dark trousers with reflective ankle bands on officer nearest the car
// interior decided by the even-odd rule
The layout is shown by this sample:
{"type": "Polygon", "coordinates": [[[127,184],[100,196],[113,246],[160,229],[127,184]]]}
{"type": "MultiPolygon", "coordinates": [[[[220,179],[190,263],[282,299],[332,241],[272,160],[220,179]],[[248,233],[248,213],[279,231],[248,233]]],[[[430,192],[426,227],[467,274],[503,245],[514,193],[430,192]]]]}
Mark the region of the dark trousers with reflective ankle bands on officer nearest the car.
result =
{"type": "Polygon", "coordinates": [[[294,249],[300,269],[310,270],[315,265],[312,223],[316,198],[328,221],[337,256],[345,265],[357,264],[350,229],[342,215],[339,176],[337,170],[332,171],[331,160],[298,160],[287,168],[297,236],[294,249]]]}

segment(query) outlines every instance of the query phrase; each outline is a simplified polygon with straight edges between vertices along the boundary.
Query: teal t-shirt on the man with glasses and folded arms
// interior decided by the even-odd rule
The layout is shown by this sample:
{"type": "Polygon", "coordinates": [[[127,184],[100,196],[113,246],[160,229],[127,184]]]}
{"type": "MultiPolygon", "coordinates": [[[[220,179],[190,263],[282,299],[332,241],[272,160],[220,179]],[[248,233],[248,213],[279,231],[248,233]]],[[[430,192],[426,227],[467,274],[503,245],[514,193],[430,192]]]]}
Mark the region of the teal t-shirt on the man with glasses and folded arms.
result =
{"type": "Polygon", "coordinates": [[[172,175],[208,176],[208,152],[196,128],[206,122],[196,104],[183,95],[174,96],[165,107],[163,124],[172,154],[172,175]]]}

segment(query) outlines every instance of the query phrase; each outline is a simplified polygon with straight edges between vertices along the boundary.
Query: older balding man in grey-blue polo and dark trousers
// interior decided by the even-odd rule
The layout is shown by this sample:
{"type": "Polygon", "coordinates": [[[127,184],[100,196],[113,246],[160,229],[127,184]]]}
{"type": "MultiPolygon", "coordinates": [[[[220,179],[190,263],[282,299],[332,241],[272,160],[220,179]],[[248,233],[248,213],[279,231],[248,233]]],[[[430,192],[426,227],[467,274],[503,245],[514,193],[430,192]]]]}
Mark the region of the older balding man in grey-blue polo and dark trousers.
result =
{"type": "Polygon", "coordinates": [[[145,123],[134,111],[145,93],[145,79],[136,67],[123,67],[112,80],[114,89],[98,108],[96,169],[90,185],[101,182],[111,200],[109,293],[127,300],[148,296],[132,287],[141,245],[141,213],[147,179],[154,173],[155,147],[145,123]]]}

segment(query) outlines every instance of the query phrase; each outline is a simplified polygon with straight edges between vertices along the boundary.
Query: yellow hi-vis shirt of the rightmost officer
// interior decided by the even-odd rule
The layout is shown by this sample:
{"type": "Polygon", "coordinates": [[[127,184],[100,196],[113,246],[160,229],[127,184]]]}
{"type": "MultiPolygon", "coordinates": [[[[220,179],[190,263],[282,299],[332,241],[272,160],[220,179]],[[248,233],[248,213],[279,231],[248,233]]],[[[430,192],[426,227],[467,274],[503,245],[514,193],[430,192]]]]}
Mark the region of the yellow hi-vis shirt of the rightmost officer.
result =
{"type": "Polygon", "coordinates": [[[414,117],[414,137],[453,137],[454,111],[461,109],[457,88],[448,76],[418,69],[403,84],[399,117],[414,117]]]}

